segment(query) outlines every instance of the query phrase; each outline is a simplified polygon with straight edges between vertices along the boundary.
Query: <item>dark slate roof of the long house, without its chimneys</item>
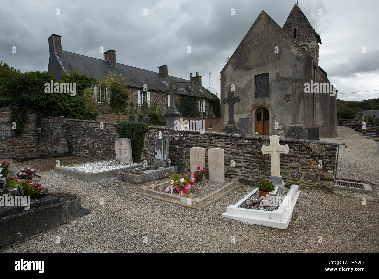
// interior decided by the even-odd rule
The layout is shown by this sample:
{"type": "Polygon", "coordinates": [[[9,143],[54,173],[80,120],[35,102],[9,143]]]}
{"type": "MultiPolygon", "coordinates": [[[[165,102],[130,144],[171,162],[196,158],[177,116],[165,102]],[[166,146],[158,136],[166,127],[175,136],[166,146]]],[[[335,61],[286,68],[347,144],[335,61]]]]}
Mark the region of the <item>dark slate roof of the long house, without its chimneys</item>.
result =
{"type": "Polygon", "coordinates": [[[203,86],[194,81],[192,82],[193,90],[191,92],[190,81],[183,78],[172,76],[165,78],[159,72],[148,71],[120,63],[116,63],[116,67],[114,67],[106,60],[67,51],[62,51],[62,53],[63,55],[57,53],[55,53],[55,55],[58,57],[58,61],[60,61],[62,68],[67,74],[75,71],[98,79],[108,72],[113,72],[122,74],[126,79],[127,85],[131,87],[143,88],[143,85],[147,84],[149,90],[164,92],[169,89],[169,83],[174,82],[175,86],[178,87],[178,90],[175,92],[176,94],[199,96],[203,98],[213,97],[203,86]]]}

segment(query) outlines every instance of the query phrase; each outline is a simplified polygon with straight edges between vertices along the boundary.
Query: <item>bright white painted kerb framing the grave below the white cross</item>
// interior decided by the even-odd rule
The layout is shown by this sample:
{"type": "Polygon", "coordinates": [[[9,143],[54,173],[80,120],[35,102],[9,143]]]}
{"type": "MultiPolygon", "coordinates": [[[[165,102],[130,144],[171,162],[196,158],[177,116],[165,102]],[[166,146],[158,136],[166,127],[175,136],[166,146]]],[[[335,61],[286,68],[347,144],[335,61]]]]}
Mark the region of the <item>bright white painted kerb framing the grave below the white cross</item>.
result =
{"type": "Polygon", "coordinates": [[[229,205],[226,212],[222,214],[222,217],[239,220],[249,224],[258,224],[282,230],[287,229],[288,224],[291,221],[293,209],[301,192],[299,191],[299,185],[291,185],[291,190],[276,210],[265,211],[240,208],[239,206],[252,194],[258,191],[258,189],[259,188],[255,188],[236,204],[229,205]]]}

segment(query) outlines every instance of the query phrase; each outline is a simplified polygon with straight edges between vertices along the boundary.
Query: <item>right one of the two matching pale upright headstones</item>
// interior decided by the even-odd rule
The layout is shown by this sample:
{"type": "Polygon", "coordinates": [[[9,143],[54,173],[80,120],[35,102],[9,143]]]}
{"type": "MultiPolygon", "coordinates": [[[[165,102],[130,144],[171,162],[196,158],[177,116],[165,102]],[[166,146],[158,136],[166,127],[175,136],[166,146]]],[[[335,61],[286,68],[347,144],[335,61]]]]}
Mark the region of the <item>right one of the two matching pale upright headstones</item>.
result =
{"type": "Polygon", "coordinates": [[[225,182],[225,152],[221,148],[208,149],[208,178],[210,181],[225,182]]]}

